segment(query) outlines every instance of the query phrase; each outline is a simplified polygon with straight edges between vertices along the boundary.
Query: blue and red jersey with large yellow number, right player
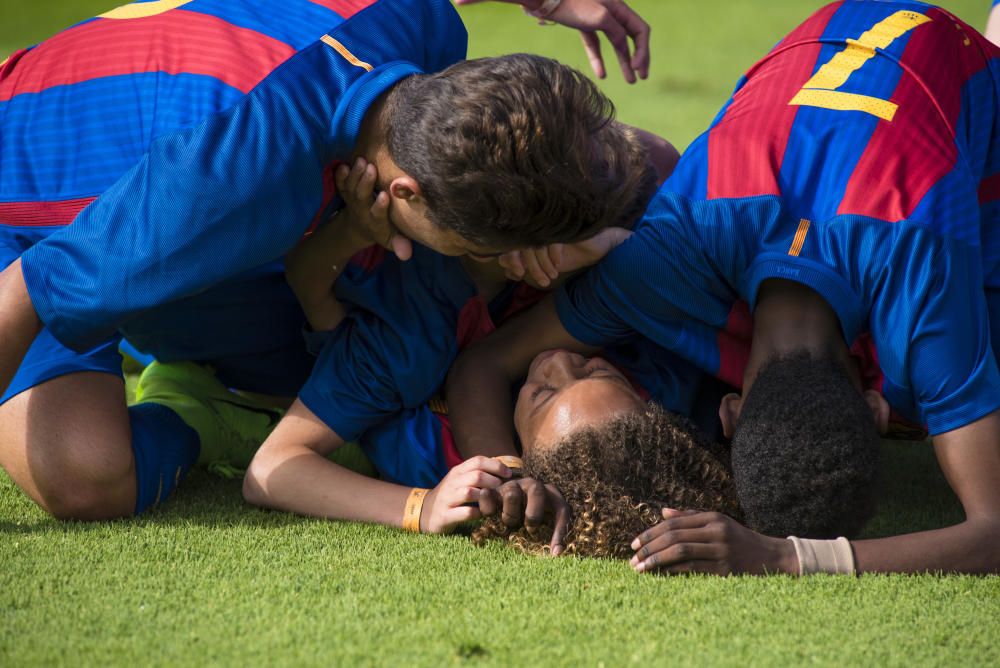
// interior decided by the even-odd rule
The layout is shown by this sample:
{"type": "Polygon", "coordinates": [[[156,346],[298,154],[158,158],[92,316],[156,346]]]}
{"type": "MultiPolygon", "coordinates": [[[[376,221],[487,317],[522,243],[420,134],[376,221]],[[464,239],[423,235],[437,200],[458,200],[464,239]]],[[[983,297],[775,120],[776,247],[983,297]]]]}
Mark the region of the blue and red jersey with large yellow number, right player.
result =
{"type": "Polygon", "coordinates": [[[998,82],[1000,52],[942,9],[819,10],[739,82],[632,238],[560,293],[563,324],[593,345],[638,331],[739,385],[740,301],[788,279],[846,341],[870,334],[887,400],[932,434],[995,410],[998,82]]]}

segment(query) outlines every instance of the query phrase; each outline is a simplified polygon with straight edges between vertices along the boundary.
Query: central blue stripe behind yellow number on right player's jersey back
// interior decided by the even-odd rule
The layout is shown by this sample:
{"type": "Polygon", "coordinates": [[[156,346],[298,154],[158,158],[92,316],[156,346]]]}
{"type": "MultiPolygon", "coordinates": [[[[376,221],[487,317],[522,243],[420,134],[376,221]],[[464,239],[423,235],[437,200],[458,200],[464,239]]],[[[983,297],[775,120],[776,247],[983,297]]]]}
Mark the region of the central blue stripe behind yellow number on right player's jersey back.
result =
{"type": "MultiPolygon", "coordinates": [[[[866,12],[870,19],[860,20],[858,12],[844,11],[843,7],[831,17],[820,38],[826,43],[820,49],[813,74],[844,50],[845,37],[857,39],[861,36],[859,25],[875,25],[899,11],[899,5],[872,4],[866,12]]],[[[897,38],[889,45],[888,53],[894,57],[902,54],[909,35],[897,38]]],[[[876,56],[853,72],[837,90],[889,99],[901,74],[902,69],[893,60],[876,56]]],[[[818,221],[837,215],[854,167],[880,120],[861,111],[799,107],[778,177],[782,199],[795,217],[818,221]],[[831,164],[842,168],[829,169],[831,164]]]]}

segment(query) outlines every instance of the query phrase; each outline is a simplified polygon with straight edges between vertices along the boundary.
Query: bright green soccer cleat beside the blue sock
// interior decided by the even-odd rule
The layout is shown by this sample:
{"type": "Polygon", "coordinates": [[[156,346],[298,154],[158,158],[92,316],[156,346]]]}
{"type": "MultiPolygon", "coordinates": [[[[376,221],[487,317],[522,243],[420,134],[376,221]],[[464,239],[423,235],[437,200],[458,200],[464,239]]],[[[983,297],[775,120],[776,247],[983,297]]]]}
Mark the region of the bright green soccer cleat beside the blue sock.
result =
{"type": "Polygon", "coordinates": [[[139,377],[135,403],[166,406],[195,430],[198,464],[226,478],[243,475],[284,410],[229,390],[193,362],[153,362],[139,377]]]}

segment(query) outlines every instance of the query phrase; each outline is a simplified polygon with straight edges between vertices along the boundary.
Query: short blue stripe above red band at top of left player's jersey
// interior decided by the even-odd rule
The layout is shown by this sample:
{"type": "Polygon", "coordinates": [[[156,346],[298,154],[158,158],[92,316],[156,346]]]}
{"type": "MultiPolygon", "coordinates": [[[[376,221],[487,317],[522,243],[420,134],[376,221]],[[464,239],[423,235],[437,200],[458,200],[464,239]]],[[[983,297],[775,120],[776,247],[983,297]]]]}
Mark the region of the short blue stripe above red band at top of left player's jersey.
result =
{"type": "Polygon", "coordinates": [[[255,30],[282,41],[296,51],[344,22],[336,12],[307,0],[257,2],[193,0],[180,9],[215,16],[240,28],[255,30]]]}

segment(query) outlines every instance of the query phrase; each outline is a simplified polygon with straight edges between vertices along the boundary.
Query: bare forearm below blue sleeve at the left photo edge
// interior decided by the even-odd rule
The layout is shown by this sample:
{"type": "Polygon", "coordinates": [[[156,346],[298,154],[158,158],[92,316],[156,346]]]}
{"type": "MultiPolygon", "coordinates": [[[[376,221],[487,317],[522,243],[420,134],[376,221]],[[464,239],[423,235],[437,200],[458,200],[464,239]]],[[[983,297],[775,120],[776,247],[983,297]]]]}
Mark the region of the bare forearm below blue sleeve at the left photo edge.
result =
{"type": "Polygon", "coordinates": [[[6,391],[28,348],[42,329],[21,274],[21,260],[0,273],[0,393],[6,391]]]}

